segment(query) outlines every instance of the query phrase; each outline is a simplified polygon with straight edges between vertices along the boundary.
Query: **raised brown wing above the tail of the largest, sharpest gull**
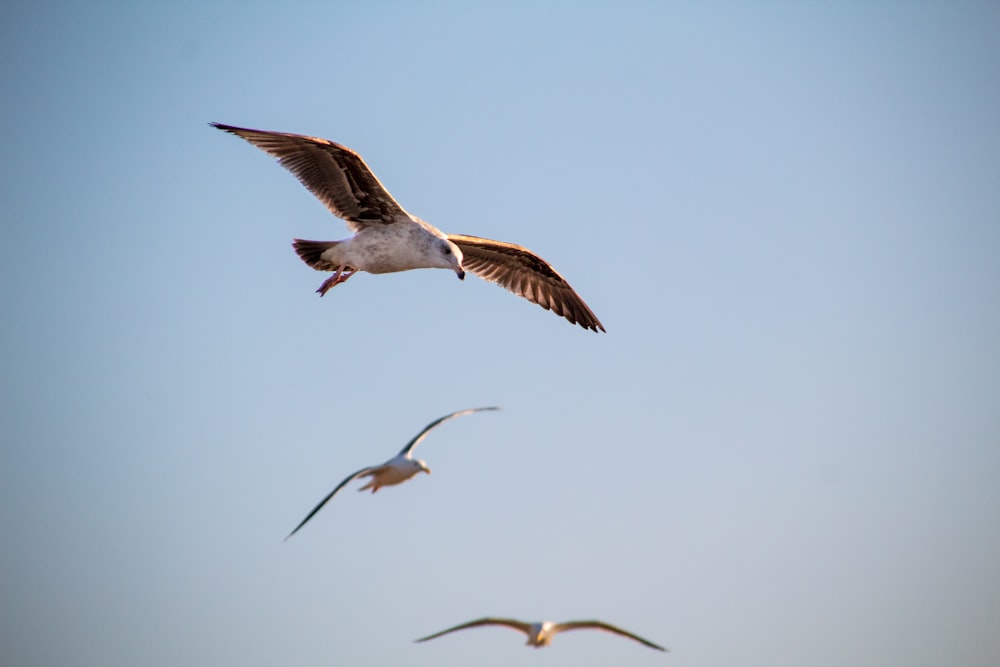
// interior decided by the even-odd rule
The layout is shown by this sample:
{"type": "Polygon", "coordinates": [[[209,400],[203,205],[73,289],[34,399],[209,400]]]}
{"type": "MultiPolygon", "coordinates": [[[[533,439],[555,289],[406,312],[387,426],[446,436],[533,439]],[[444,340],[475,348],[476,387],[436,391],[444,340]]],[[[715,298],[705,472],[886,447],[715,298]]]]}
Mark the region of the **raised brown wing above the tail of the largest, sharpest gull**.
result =
{"type": "Polygon", "coordinates": [[[212,123],[246,139],[278,162],[316,195],[351,231],[372,223],[412,220],[368,168],[361,156],[326,139],[286,132],[250,130],[212,123]]]}

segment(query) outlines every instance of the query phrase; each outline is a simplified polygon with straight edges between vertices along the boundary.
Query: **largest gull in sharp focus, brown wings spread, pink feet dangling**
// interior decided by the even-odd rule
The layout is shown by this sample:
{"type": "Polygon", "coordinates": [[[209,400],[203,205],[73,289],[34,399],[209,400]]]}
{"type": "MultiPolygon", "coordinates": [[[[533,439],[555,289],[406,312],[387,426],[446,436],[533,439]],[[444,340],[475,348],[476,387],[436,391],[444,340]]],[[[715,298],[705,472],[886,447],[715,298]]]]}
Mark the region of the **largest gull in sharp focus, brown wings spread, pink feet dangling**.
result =
{"type": "Polygon", "coordinates": [[[382,186],[361,156],[326,139],[250,130],[212,123],[278,158],[354,236],[342,241],[304,241],[292,246],[317,271],[333,271],[316,290],[320,296],[358,271],[465,269],[497,283],[584,329],[604,331],[597,316],[552,266],[527,248],[463,234],[444,234],[407,213],[382,186]]]}

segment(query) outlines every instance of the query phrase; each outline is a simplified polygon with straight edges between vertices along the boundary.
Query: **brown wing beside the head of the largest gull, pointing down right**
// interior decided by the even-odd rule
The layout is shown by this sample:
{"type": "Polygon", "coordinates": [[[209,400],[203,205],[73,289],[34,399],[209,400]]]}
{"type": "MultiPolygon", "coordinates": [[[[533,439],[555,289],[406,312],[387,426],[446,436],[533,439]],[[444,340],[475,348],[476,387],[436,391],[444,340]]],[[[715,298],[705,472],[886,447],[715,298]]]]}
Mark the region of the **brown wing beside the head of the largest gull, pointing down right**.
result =
{"type": "Polygon", "coordinates": [[[584,329],[604,331],[604,325],[566,279],[527,248],[463,234],[449,234],[448,239],[462,249],[462,267],[467,271],[584,329]]]}

